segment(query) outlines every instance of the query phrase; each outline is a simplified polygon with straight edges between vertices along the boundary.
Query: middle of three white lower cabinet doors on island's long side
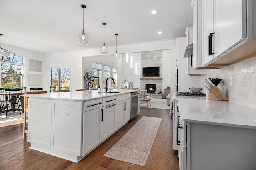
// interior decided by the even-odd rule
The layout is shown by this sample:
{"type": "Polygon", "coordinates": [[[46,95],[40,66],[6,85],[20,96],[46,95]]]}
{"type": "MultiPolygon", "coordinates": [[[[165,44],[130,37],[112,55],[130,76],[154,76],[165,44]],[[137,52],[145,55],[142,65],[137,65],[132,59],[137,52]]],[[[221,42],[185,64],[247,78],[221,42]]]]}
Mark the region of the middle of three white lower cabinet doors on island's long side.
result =
{"type": "Polygon", "coordinates": [[[102,116],[102,141],[104,141],[116,131],[116,104],[104,106],[102,116]]]}

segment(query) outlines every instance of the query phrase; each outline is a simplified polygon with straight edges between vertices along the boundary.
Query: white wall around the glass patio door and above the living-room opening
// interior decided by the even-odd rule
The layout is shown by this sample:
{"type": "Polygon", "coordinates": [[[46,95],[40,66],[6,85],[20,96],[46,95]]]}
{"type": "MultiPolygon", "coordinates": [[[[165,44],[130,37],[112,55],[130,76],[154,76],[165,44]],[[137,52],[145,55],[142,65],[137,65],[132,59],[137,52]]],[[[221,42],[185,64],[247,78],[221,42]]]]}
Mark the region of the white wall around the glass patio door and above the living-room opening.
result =
{"type": "MultiPolygon", "coordinates": [[[[154,43],[134,44],[118,46],[118,53],[136,53],[141,51],[166,50],[172,47],[173,41],[161,41],[154,43]]],[[[115,47],[109,47],[109,53],[115,52],[115,47]]],[[[82,51],[70,51],[65,53],[53,53],[45,55],[45,76],[44,86],[49,86],[49,68],[71,66],[71,90],[82,88],[82,57],[100,55],[99,49],[90,49],[82,51]]]]}

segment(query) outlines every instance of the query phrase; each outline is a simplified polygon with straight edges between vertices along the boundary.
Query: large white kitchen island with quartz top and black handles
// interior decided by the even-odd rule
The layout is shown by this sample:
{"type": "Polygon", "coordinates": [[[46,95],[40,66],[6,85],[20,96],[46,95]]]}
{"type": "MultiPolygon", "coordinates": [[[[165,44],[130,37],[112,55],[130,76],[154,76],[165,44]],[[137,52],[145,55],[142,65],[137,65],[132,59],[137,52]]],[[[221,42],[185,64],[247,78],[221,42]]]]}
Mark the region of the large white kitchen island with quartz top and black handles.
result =
{"type": "Polygon", "coordinates": [[[78,162],[130,120],[131,92],[24,95],[30,149],[78,162]]]}

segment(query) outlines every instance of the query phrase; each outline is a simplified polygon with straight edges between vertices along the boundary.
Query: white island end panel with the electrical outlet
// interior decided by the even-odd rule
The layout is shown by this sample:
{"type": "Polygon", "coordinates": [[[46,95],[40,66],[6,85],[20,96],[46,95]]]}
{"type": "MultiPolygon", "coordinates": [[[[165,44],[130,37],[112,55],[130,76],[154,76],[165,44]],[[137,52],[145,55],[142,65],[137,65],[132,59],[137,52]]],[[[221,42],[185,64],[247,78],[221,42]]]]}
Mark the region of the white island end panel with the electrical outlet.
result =
{"type": "Polygon", "coordinates": [[[53,100],[52,148],[82,156],[82,102],[53,100]]]}

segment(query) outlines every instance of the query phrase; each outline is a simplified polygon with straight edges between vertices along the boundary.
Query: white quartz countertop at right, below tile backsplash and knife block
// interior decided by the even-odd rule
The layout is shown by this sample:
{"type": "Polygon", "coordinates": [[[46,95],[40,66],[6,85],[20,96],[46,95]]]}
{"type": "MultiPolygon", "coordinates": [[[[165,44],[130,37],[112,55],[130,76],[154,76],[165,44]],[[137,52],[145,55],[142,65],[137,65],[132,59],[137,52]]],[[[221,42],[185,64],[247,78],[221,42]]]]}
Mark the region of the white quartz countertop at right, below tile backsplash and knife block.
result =
{"type": "Polygon", "coordinates": [[[256,109],[202,97],[173,96],[173,99],[178,99],[182,121],[256,129],[256,109]]]}

